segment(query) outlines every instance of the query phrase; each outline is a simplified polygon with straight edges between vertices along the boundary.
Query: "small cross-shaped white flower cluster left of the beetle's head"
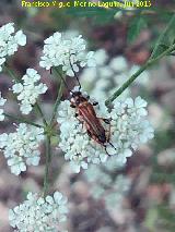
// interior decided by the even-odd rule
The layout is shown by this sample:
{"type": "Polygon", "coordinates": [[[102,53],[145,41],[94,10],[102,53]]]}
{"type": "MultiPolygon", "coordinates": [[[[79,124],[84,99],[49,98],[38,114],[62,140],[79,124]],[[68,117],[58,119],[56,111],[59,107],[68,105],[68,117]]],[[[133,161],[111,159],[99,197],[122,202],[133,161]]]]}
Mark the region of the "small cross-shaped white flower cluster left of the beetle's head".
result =
{"type": "Polygon", "coordinates": [[[21,101],[21,112],[28,114],[32,111],[32,107],[36,103],[38,96],[46,93],[47,86],[43,83],[37,84],[40,75],[34,69],[27,69],[22,80],[23,84],[14,84],[12,90],[14,94],[18,94],[18,100],[21,101]]]}

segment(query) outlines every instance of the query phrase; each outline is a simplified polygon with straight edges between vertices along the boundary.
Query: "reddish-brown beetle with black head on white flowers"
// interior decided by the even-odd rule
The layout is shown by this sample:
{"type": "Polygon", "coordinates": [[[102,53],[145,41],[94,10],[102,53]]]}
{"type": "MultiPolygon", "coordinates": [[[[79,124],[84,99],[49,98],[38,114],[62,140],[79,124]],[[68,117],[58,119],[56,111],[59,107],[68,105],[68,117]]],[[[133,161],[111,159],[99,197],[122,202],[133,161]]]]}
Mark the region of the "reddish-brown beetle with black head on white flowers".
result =
{"type": "MultiPolygon", "coordinates": [[[[110,146],[114,147],[114,145],[109,142],[110,119],[98,118],[96,115],[94,106],[97,105],[98,102],[96,101],[90,102],[90,96],[84,96],[80,90],[71,91],[70,107],[75,108],[75,117],[85,126],[88,135],[96,143],[104,146],[106,150],[107,144],[110,144],[110,146]],[[102,122],[109,125],[108,131],[104,129],[102,122]]],[[[106,154],[108,154],[107,150],[106,154]]]]}

